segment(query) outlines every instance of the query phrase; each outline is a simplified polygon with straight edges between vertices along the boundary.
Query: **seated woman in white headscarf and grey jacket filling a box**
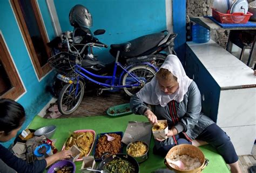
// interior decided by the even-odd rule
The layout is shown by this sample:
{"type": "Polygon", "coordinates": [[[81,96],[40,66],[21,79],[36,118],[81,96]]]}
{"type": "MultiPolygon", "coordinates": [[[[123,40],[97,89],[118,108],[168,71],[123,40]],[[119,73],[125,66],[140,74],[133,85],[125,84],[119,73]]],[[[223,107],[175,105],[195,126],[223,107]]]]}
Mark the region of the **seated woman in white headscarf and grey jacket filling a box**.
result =
{"type": "Polygon", "coordinates": [[[201,112],[200,91],[177,56],[166,57],[152,81],[131,98],[130,106],[133,113],[145,115],[152,124],[167,120],[168,138],[155,140],[155,154],[165,156],[181,143],[194,146],[209,143],[230,164],[231,172],[241,172],[230,138],[201,112]]]}

